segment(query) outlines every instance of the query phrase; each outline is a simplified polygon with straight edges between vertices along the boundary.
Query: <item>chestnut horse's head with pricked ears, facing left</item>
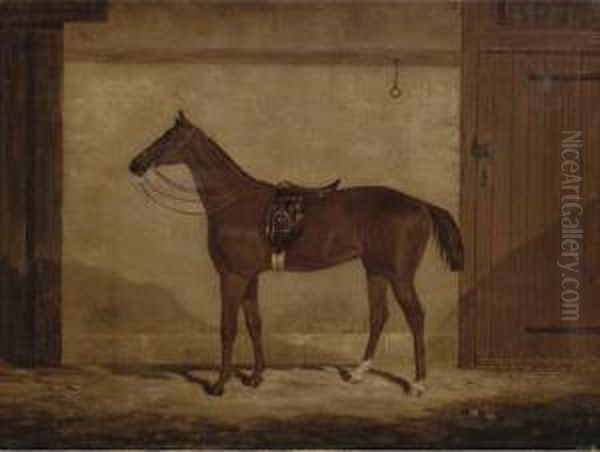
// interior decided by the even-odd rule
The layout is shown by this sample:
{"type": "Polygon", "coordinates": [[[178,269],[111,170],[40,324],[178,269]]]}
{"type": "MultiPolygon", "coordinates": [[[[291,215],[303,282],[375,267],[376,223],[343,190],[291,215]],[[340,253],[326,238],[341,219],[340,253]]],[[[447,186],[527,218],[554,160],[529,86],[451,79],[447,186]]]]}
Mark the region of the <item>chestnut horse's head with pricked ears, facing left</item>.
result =
{"type": "Polygon", "coordinates": [[[129,171],[142,176],[150,167],[185,163],[187,144],[194,131],[197,131],[180,110],[175,124],[136,155],[129,164],[129,171]]]}

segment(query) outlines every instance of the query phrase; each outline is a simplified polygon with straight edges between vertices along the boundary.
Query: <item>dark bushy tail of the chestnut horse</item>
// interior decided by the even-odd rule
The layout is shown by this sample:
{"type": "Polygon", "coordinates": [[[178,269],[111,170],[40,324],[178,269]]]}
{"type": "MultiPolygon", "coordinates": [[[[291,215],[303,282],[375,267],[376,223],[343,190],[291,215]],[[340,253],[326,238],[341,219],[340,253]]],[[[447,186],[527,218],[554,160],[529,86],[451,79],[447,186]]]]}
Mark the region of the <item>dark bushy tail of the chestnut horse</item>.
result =
{"type": "Polygon", "coordinates": [[[433,220],[433,234],[442,259],[451,271],[464,268],[464,248],[460,231],[452,215],[447,210],[429,205],[429,213],[433,220]]]}

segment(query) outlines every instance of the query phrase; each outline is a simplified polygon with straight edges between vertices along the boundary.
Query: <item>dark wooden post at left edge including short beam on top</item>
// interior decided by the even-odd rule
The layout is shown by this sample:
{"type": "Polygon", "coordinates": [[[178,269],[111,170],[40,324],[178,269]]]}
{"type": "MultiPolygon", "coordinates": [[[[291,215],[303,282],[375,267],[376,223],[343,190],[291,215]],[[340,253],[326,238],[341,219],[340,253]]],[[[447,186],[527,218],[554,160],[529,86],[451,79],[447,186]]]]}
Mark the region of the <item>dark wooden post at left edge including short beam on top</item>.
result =
{"type": "Polygon", "coordinates": [[[65,20],[94,2],[0,4],[0,356],[61,364],[65,20]]]}

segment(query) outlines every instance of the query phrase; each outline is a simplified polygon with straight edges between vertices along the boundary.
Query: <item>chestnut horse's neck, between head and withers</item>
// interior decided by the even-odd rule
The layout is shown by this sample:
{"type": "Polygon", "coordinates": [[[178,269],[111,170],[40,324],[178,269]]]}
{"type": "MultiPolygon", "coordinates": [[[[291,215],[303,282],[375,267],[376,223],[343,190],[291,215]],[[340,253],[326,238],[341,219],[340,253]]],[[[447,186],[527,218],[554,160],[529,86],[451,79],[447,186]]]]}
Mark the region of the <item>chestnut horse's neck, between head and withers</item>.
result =
{"type": "Polygon", "coordinates": [[[202,203],[208,211],[265,188],[240,168],[216,143],[206,139],[192,147],[188,167],[202,203]]]}

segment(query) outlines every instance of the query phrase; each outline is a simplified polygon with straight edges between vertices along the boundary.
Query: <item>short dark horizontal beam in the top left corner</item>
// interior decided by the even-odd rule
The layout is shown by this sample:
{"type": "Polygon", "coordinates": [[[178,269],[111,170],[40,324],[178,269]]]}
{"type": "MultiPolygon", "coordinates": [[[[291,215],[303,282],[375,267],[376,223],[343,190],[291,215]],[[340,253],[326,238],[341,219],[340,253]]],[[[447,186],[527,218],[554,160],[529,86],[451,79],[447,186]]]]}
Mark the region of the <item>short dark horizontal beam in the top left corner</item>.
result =
{"type": "Polygon", "coordinates": [[[0,27],[62,26],[64,22],[106,20],[106,0],[0,0],[0,27]]]}

